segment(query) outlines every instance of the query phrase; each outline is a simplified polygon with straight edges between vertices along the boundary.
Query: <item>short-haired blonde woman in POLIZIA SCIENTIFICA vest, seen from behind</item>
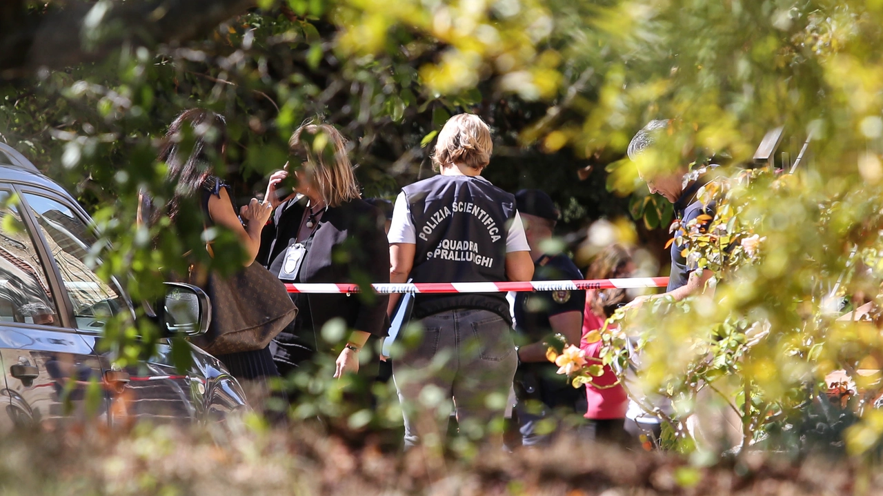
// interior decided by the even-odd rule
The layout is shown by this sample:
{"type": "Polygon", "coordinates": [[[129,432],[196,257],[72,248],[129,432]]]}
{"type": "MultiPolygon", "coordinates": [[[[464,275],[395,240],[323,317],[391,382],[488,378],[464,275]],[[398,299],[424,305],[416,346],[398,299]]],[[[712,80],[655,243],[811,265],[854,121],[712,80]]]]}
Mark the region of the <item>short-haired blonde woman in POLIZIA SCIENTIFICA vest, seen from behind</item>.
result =
{"type": "MultiPolygon", "coordinates": [[[[396,199],[391,282],[531,280],[533,260],[515,198],[481,177],[492,149],[479,116],[460,114],[444,125],[433,154],[441,174],[404,187],[396,199]]],[[[390,299],[390,312],[396,300],[390,299]]],[[[503,406],[517,367],[505,295],[418,294],[413,316],[423,338],[393,360],[406,447],[437,444],[447,430],[447,402],[433,408],[420,399],[427,385],[453,398],[461,432],[502,443],[503,406]]]]}

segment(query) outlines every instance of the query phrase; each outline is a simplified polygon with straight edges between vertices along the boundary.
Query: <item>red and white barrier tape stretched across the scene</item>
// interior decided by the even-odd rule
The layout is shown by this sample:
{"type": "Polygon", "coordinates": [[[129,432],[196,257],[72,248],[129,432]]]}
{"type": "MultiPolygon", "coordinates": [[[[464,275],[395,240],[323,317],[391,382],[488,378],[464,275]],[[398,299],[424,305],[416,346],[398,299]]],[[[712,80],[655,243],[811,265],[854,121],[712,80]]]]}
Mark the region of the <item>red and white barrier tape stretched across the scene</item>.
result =
{"type": "MultiPolygon", "coordinates": [[[[665,288],[668,277],[629,277],[585,281],[530,282],[405,282],[372,284],[382,295],[392,293],[500,293],[505,291],[566,291],[577,289],[665,288]]],[[[289,293],[358,293],[358,284],[298,283],[285,284],[289,293]]]]}

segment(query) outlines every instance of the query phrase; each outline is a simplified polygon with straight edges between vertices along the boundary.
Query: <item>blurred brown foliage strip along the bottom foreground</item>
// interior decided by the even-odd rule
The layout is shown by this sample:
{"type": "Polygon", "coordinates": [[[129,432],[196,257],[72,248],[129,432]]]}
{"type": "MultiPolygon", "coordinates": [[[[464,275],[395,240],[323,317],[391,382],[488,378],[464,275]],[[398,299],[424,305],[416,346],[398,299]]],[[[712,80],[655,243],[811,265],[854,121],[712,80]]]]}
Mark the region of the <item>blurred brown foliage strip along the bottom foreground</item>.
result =
{"type": "Polygon", "coordinates": [[[304,428],[268,429],[253,419],[223,430],[138,425],[125,435],[93,430],[55,435],[17,432],[0,440],[0,490],[46,496],[218,492],[231,496],[440,492],[814,496],[883,484],[879,471],[825,459],[796,465],[781,456],[756,454],[736,463],[735,470],[696,469],[675,457],[576,442],[440,462],[427,463],[426,453],[416,449],[391,454],[374,442],[347,444],[304,428]]]}

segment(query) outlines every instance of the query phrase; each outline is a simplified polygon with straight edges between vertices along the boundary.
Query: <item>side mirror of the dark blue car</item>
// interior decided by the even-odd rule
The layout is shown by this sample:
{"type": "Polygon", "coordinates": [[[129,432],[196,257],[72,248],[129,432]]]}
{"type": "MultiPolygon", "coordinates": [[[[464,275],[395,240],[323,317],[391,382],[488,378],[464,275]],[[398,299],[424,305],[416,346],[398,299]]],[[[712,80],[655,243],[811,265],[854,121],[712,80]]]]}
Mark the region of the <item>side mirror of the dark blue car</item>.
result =
{"type": "Polygon", "coordinates": [[[166,282],[162,316],[170,334],[205,334],[212,321],[212,304],[202,289],[184,282],[166,282]]]}

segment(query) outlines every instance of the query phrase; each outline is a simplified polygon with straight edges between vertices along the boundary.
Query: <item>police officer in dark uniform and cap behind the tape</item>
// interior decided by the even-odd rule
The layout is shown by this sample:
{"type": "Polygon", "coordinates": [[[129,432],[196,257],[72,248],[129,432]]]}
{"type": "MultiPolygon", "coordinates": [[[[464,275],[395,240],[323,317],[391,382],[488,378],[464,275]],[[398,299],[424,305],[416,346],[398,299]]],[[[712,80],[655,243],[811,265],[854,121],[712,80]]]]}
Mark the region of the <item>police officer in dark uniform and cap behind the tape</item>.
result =
{"type": "MultiPolygon", "coordinates": [[[[543,247],[554,233],[559,212],[555,203],[540,190],[521,190],[515,195],[518,212],[525,224],[531,246],[534,281],[580,280],[583,274],[564,253],[547,253],[543,247]]],[[[553,334],[579,346],[585,307],[585,291],[517,292],[512,301],[518,371],[515,390],[515,417],[524,446],[536,446],[552,439],[556,430],[555,410],[576,413],[585,402],[582,388],[570,386],[567,377],[546,358],[543,344],[553,334]]],[[[585,409],[583,409],[585,413],[585,409]]]]}

